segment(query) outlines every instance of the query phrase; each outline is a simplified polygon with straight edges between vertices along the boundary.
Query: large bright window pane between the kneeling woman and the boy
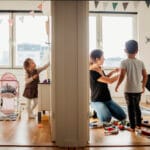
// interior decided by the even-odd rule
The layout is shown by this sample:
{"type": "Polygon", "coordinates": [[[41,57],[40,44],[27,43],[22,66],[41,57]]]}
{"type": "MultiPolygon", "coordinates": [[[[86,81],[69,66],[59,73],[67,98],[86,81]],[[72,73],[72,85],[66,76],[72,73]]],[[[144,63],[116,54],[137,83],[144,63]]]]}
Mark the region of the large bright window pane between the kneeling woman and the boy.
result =
{"type": "MultiPolygon", "coordinates": [[[[105,68],[119,67],[121,60],[126,58],[124,45],[126,41],[136,39],[135,22],[135,15],[97,15],[97,32],[95,37],[97,37],[97,48],[104,51],[105,68]]],[[[90,32],[95,32],[95,30],[90,32]]]]}

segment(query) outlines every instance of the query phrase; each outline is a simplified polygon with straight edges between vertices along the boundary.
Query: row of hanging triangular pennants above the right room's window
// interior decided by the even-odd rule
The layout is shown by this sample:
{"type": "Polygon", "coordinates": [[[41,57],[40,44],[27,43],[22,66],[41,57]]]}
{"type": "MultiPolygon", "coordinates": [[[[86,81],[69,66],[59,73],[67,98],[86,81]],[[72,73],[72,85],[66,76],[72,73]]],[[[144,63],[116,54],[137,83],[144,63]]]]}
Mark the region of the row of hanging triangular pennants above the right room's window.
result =
{"type": "MultiPolygon", "coordinates": [[[[94,1],[95,8],[98,8],[99,3],[100,3],[100,0],[95,0],[94,1]]],[[[110,2],[103,1],[103,9],[104,10],[108,6],[108,3],[110,3],[110,2]]],[[[116,10],[116,8],[117,8],[117,6],[118,6],[119,3],[120,2],[117,2],[117,1],[112,2],[112,8],[113,8],[113,10],[116,10]]],[[[145,3],[146,3],[147,7],[150,6],[150,0],[145,0],[145,3]]],[[[127,9],[128,5],[129,5],[129,2],[122,2],[122,7],[123,7],[124,11],[127,9]]],[[[139,5],[139,1],[134,1],[134,7],[137,8],[138,5],[139,5]]]]}

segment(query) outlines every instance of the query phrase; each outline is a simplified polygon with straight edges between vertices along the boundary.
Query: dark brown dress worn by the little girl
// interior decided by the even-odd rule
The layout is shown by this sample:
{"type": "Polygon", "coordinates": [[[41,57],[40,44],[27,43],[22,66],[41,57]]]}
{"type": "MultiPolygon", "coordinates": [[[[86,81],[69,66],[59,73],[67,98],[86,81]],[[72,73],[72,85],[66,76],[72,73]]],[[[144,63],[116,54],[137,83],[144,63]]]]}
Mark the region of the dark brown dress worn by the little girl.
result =
{"type": "MultiPolygon", "coordinates": [[[[38,74],[36,69],[28,73],[29,77],[32,77],[35,74],[38,74]]],[[[38,83],[39,83],[39,77],[34,79],[32,82],[26,84],[25,90],[23,92],[23,96],[29,99],[37,98],[38,97],[38,83]]]]}

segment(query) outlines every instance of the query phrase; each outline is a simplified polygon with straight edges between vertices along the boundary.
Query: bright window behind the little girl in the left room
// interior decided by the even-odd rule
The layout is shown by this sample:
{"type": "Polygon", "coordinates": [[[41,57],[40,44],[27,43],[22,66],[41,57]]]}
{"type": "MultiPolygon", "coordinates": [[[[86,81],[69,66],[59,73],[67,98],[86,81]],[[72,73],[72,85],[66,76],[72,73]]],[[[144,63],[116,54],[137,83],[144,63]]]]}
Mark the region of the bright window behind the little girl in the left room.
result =
{"type": "Polygon", "coordinates": [[[49,50],[47,22],[48,16],[40,14],[1,15],[0,35],[5,36],[0,36],[0,67],[21,68],[27,57],[41,65],[49,50]]]}

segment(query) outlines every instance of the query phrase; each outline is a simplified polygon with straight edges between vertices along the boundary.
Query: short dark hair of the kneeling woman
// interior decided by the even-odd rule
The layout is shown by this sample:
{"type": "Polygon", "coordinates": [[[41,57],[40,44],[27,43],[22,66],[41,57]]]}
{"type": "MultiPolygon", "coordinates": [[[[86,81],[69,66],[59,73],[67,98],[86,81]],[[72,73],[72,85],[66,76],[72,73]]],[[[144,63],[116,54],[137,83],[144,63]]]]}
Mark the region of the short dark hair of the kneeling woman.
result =
{"type": "Polygon", "coordinates": [[[103,51],[100,49],[94,49],[90,54],[90,64],[96,61],[96,58],[101,58],[103,56],[103,51]]]}

